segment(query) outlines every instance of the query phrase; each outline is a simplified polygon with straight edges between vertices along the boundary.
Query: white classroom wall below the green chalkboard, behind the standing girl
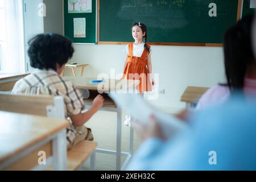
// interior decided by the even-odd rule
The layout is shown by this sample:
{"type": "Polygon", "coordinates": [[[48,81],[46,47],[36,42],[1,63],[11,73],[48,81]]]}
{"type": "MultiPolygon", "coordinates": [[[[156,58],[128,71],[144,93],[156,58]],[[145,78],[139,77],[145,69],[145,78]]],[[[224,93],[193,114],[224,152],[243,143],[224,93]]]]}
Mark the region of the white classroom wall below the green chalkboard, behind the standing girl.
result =
{"type": "MultiPolygon", "coordinates": [[[[110,75],[123,71],[125,45],[75,44],[71,61],[88,63],[84,77],[97,77],[99,73],[110,75]]],[[[180,102],[187,86],[213,86],[225,81],[223,53],[220,47],[152,46],[153,73],[159,73],[159,88],[165,89],[152,104],[166,111],[177,111],[185,107],[180,102]]],[[[77,70],[80,71],[80,70],[77,70]]],[[[64,76],[72,76],[65,69],[64,76]]]]}

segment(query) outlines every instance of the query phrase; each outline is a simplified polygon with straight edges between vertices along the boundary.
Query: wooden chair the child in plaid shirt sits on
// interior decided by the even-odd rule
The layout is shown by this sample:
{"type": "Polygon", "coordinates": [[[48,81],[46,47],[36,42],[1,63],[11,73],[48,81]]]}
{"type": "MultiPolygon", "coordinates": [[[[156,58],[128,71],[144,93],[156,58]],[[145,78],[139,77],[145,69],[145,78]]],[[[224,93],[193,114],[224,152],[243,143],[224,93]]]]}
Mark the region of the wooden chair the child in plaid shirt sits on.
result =
{"type": "MultiPolygon", "coordinates": [[[[61,96],[31,96],[0,92],[0,110],[58,119],[65,118],[64,100],[61,96]]],[[[64,152],[67,156],[67,170],[76,170],[90,155],[90,167],[94,169],[96,146],[97,142],[84,140],[71,150],[64,152]]]]}

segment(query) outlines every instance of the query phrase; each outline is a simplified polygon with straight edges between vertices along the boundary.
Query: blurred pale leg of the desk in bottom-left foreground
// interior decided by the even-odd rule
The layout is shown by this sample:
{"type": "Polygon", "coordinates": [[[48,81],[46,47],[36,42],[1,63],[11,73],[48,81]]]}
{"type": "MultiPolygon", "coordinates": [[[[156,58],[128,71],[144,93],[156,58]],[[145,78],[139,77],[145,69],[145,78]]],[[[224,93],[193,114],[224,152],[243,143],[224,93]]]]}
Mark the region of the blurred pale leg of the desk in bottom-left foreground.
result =
{"type": "Polygon", "coordinates": [[[52,141],[53,170],[67,170],[67,140],[66,130],[62,130],[52,141]]]}

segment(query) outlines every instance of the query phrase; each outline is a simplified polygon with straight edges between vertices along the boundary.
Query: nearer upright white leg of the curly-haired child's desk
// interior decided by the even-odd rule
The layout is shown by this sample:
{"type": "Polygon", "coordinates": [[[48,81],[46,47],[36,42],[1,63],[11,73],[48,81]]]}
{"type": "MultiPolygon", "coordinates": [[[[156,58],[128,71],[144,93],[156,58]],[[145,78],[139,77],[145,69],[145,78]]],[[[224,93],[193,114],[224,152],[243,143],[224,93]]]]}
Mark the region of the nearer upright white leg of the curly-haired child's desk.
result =
{"type": "Polygon", "coordinates": [[[121,169],[122,108],[117,107],[117,159],[116,170],[121,169]]]}

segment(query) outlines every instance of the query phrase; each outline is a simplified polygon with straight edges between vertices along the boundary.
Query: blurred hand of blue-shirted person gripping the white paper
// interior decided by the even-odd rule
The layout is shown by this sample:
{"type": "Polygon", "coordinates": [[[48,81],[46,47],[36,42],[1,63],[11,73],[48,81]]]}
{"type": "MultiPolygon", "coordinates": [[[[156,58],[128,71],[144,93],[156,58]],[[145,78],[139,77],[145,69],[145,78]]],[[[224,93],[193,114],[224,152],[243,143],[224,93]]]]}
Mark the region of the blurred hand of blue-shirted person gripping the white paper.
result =
{"type": "Polygon", "coordinates": [[[165,139],[162,130],[160,129],[160,126],[154,116],[149,118],[149,122],[147,124],[133,121],[131,122],[131,127],[134,128],[135,132],[140,135],[143,140],[154,137],[163,140],[165,139]]]}

